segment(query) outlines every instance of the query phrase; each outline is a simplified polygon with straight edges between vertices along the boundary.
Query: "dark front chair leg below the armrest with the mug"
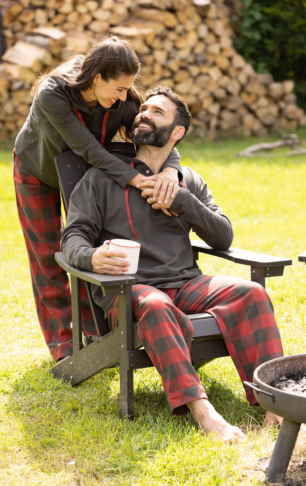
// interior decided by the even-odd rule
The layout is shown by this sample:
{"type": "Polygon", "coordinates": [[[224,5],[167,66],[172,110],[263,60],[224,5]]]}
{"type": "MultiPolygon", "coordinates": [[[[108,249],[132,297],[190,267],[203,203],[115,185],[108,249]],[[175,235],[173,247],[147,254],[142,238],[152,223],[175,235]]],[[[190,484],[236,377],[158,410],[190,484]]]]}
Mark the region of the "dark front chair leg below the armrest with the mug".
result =
{"type": "Polygon", "coordinates": [[[132,285],[119,295],[120,414],[134,419],[133,370],[128,369],[128,351],[133,349],[132,285]]]}

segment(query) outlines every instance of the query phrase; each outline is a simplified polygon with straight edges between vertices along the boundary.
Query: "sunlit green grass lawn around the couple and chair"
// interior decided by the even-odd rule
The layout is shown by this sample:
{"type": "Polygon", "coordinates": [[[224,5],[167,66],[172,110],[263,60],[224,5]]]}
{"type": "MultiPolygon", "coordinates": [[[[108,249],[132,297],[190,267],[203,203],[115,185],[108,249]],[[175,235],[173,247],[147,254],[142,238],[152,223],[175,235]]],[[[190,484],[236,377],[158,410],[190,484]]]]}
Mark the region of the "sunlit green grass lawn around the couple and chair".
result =
{"type": "MultiPolygon", "coordinates": [[[[306,139],[306,130],[299,134],[306,139]]],[[[178,148],[182,164],[204,177],[230,217],[233,246],[292,258],[283,277],[266,280],[266,289],[285,353],[301,353],[306,267],[297,257],[306,250],[306,157],[236,156],[257,141],[187,139],[178,148]]],[[[261,485],[257,459],[271,455],[277,429],[263,424],[262,408],[248,405],[229,358],[199,373],[216,409],[248,434],[247,443],[231,447],[203,437],[192,417],[171,416],[154,368],[134,373],[134,422],[119,417],[116,369],[73,389],[51,378],[17,219],[11,152],[0,151],[0,485],[261,485]]],[[[208,275],[250,278],[248,267],[214,257],[202,256],[200,266],[208,275]]],[[[299,438],[290,477],[300,477],[297,466],[305,458],[299,438]]]]}

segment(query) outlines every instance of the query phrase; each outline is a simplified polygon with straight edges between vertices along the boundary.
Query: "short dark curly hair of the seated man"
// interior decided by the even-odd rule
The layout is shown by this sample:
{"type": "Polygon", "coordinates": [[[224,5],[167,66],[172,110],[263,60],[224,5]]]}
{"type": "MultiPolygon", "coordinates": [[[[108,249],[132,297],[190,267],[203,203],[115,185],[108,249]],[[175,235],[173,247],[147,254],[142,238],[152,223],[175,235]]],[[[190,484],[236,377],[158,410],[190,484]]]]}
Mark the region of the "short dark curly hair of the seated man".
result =
{"type": "Polygon", "coordinates": [[[175,123],[175,126],[179,125],[185,128],[185,133],[183,137],[177,140],[175,143],[175,145],[177,145],[186,136],[190,125],[191,115],[189,113],[188,106],[183,98],[181,98],[180,95],[169,86],[156,86],[153,89],[148,89],[145,94],[146,101],[149,100],[149,98],[151,98],[152,96],[157,95],[167,96],[167,98],[169,98],[175,104],[176,112],[173,123],[175,123]]]}

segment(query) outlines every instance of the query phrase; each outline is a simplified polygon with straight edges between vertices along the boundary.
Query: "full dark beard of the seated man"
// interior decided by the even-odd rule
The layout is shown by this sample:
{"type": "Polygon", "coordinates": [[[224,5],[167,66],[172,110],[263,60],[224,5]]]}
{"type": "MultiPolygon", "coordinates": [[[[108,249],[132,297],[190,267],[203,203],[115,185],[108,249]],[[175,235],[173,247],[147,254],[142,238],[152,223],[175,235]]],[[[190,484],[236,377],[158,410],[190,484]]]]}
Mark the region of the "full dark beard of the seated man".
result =
{"type": "Polygon", "coordinates": [[[134,122],[131,129],[131,140],[135,145],[153,145],[153,147],[164,147],[170,139],[171,133],[177,123],[173,121],[170,125],[157,127],[155,123],[148,119],[134,122]],[[152,130],[146,128],[137,130],[139,123],[149,125],[152,130]]]}

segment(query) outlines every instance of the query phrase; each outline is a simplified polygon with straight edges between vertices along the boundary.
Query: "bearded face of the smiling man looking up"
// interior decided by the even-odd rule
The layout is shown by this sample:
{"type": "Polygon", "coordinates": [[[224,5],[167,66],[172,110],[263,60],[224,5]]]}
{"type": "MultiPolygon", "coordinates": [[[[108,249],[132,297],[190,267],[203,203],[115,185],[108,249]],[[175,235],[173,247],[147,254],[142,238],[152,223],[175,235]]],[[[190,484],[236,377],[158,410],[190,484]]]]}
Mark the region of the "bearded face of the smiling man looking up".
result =
{"type": "Polygon", "coordinates": [[[176,126],[174,114],[175,104],[167,96],[152,96],[139,108],[131,129],[132,142],[164,147],[176,126]]]}

